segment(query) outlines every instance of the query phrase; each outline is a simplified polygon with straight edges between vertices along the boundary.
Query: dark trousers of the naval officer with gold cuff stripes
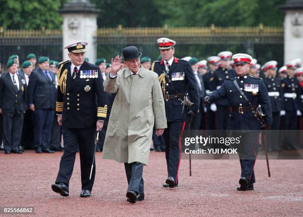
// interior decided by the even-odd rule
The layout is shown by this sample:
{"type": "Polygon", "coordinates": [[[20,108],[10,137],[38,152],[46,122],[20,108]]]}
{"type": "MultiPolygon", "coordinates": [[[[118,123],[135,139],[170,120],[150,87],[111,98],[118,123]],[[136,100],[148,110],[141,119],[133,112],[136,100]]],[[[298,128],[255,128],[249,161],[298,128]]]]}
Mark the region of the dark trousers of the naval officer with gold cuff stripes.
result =
{"type": "Polygon", "coordinates": [[[71,129],[62,127],[64,152],[61,157],[59,172],[56,178],[56,183],[63,182],[69,185],[70,177],[73,173],[77,147],[80,151],[80,165],[81,165],[81,183],[82,190],[92,190],[96,164],[90,180],[91,167],[95,153],[95,133],[96,127],[84,129],[71,129]]]}

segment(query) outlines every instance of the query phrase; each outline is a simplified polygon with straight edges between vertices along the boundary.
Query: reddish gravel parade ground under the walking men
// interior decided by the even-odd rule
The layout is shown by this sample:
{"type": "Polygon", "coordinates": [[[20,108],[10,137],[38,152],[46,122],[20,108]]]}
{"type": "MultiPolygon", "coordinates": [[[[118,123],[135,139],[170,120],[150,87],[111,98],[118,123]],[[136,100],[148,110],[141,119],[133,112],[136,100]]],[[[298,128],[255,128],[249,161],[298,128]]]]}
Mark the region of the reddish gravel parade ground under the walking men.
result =
{"type": "MultiPolygon", "coordinates": [[[[181,161],[180,187],[163,188],[167,177],[164,153],[151,153],[144,167],[145,201],[126,201],[124,165],[101,160],[92,197],[80,198],[80,163],[77,154],[70,180],[70,196],[51,190],[62,153],[22,155],[0,153],[0,206],[35,207],[36,216],[303,216],[303,161],[271,160],[255,165],[254,191],[236,190],[240,178],[237,160],[181,161]]],[[[20,216],[20,215],[16,215],[20,216]]]]}

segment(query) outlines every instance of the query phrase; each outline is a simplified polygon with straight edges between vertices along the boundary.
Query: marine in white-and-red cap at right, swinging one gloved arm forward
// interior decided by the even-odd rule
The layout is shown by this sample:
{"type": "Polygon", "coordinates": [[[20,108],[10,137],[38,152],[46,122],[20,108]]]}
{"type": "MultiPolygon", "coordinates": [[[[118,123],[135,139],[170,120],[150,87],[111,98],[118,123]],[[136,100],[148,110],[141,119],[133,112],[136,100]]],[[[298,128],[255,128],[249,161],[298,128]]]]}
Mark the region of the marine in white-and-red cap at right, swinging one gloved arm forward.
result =
{"type": "Polygon", "coordinates": [[[237,146],[241,164],[239,191],[253,190],[255,182],[253,166],[256,160],[259,130],[268,129],[272,124],[270,100],[262,79],[249,75],[252,56],[235,54],[232,59],[236,66],[237,77],[227,78],[222,86],[207,94],[207,103],[226,99],[230,105],[229,129],[242,131],[241,143],[237,146]],[[254,111],[261,106],[265,120],[260,124],[254,111]]]}

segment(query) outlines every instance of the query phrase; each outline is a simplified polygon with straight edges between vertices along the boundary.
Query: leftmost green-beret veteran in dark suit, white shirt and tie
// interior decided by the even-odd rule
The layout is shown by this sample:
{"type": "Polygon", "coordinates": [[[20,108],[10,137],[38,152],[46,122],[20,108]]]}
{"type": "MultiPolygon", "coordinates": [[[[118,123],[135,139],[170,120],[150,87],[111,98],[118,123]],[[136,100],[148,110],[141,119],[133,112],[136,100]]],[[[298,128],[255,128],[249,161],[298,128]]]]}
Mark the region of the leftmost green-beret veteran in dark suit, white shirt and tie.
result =
{"type": "Polygon", "coordinates": [[[3,114],[5,154],[20,150],[23,115],[27,107],[25,79],[17,75],[14,59],[7,62],[8,72],[0,78],[0,112],[3,114]]]}

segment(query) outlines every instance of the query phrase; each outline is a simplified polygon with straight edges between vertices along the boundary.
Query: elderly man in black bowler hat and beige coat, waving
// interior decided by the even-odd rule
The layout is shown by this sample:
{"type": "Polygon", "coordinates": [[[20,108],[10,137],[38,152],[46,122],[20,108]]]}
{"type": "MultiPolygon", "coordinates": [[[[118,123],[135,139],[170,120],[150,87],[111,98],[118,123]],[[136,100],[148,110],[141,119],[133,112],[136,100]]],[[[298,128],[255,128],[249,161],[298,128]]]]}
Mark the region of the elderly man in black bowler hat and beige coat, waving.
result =
{"type": "Polygon", "coordinates": [[[140,64],[135,46],[123,49],[122,57],[111,59],[111,71],[103,82],[104,90],[117,93],[109,117],[103,159],[124,163],[130,203],[144,200],[143,165],[147,165],[152,128],[160,136],[167,127],[164,100],[156,73],[140,64]]]}

